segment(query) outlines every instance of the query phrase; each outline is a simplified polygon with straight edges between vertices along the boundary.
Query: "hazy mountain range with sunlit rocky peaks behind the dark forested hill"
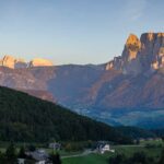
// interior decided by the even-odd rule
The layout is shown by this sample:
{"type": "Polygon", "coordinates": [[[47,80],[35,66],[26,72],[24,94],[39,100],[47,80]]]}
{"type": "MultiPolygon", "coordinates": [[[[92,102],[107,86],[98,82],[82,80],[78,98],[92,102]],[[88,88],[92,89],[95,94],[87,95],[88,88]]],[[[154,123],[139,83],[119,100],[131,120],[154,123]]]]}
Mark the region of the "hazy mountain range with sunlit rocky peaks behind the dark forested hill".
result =
{"type": "Polygon", "coordinates": [[[0,66],[2,86],[112,125],[164,127],[164,33],[130,34],[122,54],[102,65],[4,56],[0,66]]]}

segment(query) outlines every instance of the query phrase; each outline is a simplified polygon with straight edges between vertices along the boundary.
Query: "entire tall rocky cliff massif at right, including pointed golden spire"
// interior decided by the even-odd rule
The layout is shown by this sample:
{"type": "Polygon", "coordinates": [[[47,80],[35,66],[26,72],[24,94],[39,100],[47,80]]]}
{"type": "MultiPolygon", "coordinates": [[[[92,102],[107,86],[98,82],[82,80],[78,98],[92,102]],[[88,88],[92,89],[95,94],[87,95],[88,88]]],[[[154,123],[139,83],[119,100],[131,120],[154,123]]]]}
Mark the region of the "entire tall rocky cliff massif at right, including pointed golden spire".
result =
{"type": "MultiPolygon", "coordinates": [[[[116,58],[117,59],[117,58],[116,58]]],[[[125,74],[139,74],[164,67],[164,33],[144,33],[140,39],[130,34],[119,60],[107,63],[106,70],[121,70],[125,74]]]]}

